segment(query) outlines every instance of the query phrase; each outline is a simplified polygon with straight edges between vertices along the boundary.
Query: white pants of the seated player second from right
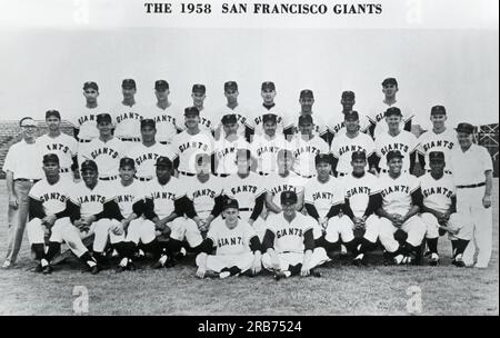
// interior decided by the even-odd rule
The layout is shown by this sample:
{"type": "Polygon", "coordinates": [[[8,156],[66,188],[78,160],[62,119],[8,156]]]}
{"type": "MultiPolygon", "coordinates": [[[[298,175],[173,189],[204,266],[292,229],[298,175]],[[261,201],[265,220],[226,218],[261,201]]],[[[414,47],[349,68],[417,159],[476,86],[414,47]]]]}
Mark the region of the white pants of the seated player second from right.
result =
{"type": "MultiPolygon", "coordinates": [[[[413,247],[422,243],[423,237],[427,232],[427,226],[418,216],[412,216],[402,226],[401,229],[408,233],[407,242],[413,247]]],[[[398,230],[392,222],[384,218],[380,218],[379,239],[382,246],[389,252],[394,252],[399,248],[399,242],[394,239],[394,232],[398,230]]]]}

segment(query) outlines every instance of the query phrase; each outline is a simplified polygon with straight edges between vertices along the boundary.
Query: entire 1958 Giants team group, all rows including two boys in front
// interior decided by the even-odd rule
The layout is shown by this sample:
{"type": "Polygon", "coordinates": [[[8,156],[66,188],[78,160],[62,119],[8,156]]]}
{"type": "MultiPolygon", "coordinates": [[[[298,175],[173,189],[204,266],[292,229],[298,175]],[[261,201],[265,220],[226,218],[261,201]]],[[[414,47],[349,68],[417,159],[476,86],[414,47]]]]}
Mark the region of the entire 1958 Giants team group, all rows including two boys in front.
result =
{"type": "Polygon", "coordinates": [[[223,89],[227,105],[207,112],[206,87],[194,84],[182,116],[164,80],[149,109],[136,103],[134,80],[123,80],[123,100],[110,111],[98,105],[98,84],[86,82],[74,138],[61,132],[57,110],[47,111],[41,137],[33,119],[21,119],[23,139],[3,166],[3,268],[16,262],[27,218],[34,270],[43,274],[62,242],[92,274],[109,256],[119,256],[123,271],[146,256],[162,268],[193,252],[200,278],[254,276],[262,267],[277,279],[320,276],[331,251],[361,266],[379,242],[392,264],[421,264],[427,247],[437,266],[443,235],[453,265],[472,266],[478,249],[474,267],[488,266],[492,161],[472,142],[473,126],[451,130],[446,108],[434,106],[432,130],[417,138],[394,78],[383,80],[377,113],[360,115],[344,91],[328,123],[313,113],[308,89],[294,116],[274,103],[273,82],[262,83],[263,102],[251,112],[238,103],[237,82],[223,89]]]}

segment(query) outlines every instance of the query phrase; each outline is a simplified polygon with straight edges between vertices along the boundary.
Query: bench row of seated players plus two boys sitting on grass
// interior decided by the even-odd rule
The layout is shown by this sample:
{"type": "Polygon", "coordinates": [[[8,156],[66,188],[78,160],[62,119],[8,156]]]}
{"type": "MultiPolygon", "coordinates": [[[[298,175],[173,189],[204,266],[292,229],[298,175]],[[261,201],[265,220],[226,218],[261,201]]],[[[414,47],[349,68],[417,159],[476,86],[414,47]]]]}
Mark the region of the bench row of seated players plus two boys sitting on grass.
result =
{"type": "Polygon", "coordinates": [[[130,158],[120,160],[118,181],[99,180],[98,166],[86,160],[80,167],[82,182],[74,185],[60,178],[59,159],[49,153],[43,157],[47,179],[30,191],[28,237],[40,260],[36,270],[50,274],[50,261],[66,241],[92,274],[106,261],[110,243],[120,256],[119,270],[134,269],[133,260],[144,252],[154,257],[154,268],[171,267],[184,248],[198,254],[199,277],[256,275],[261,267],[278,279],[319,276],[314,268],[329,261],[327,252],[340,245],[353,254],[354,265],[366,262],[364,255],[377,240],[394,264],[409,264],[419,257],[426,237],[434,258],[439,235],[447,232],[453,264],[463,267],[461,255],[471,230],[456,213],[444,155],[431,152],[431,171],[420,179],[402,170],[402,159],[399,150],[389,151],[388,175],[377,178],[366,172],[366,152],[354,151],[351,175],[339,180],[330,175],[330,157],[318,155],[317,176],[301,188],[287,177],[290,151],[280,150],[284,177],[276,179],[281,177],[282,190],[268,191],[262,178],[250,171],[246,149],[237,152],[238,177],[223,179],[223,185],[210,176],[207,155],[197,156],[197,177],[182,179],[172,177],[171,160],[160,157],[156,178],[148,182],[133,179],[136,165],[130,158]],[[444,188],[427,187],[437,179],[444,188]],[[190,189],[199,193],[187,192],[190,189]],[[46,229],[50,229],[47,250],[46,229]],[[81,240],[90,233],[92,255],[81,240]]]}

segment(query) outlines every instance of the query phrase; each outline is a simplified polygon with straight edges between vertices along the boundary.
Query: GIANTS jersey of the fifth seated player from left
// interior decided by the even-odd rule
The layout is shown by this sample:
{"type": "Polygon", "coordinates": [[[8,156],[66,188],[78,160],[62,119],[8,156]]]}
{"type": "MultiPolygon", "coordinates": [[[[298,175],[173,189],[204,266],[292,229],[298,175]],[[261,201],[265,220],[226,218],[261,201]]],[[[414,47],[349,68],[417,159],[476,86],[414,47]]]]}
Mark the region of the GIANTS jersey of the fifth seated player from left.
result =
{"type": "Polygon", "coordinates": [[[197,176],[182,178],[186,196],[192,201],[198,213],[212,211],[216,198],[222,195],[223,182],[212,175],[206,182],[201,182],[197,176]]]}

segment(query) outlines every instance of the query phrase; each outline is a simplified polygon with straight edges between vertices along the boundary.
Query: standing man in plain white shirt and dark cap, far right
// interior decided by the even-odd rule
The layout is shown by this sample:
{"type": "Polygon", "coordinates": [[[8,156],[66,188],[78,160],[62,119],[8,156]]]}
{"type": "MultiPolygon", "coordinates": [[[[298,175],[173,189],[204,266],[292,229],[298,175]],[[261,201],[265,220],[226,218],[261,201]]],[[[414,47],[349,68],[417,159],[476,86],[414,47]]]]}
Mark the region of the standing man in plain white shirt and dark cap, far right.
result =
{"type": "Polygon", "coordinates": [[[463,252],[463,262],[472,266],[476,249],[478,258],[474,268],[484,269],[491,258],[493,213],[491,189],[493,188],[493,165],[484,147],[474,145],[474,127],[459,123],[456,128],[458,146],[451,150],[450,162],[457,188],[457,210],[463,227],[472,229],[472,240],[463,252]]]}

